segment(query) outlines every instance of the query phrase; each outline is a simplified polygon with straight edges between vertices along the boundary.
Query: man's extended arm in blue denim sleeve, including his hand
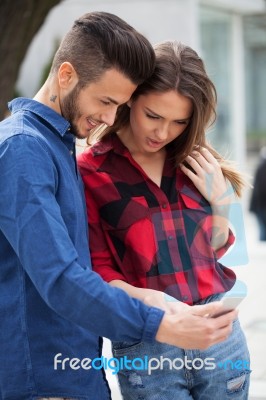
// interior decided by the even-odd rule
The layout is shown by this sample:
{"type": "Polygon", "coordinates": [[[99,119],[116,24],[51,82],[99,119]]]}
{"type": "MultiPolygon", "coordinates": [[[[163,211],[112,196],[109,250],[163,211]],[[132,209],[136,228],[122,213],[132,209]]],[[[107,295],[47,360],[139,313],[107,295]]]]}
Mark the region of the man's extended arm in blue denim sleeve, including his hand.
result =
{"type": "Polygon", "coordinates": [[[14,262],[59,315],[95,335],[128,342],[153,341],[157,335],[165,343],[205,348],[229,334],[233,313],[216,321],[205,317],[219,312],[219,306],[197,306],[197,315],[164,316],[103,282],[89,260],[88,268],[79,264],[55,198],[56,169],[38,139],[17,135],[2,144],[0,170],[0,229],[16,255],[14,262]]]}

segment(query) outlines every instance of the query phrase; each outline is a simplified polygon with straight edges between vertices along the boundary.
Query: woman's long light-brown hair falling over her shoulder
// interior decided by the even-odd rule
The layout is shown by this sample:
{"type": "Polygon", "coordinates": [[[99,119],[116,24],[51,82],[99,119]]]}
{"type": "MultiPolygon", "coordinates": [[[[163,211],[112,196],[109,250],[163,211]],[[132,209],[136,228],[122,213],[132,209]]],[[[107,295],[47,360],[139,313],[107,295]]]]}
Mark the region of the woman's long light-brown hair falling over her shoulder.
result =
{"type": "MultiPolygon", "coordinates": [[[[182,134],[168,144],[176,165],[184,162],[186,156],[195,148],[205,147],[219,161],[224,176],[231,182],[237,196],[241,196],[245,180],[233,164],[222,157],[206,140],[206,131],[216,120],[217,94],[202,59],[189,46],[177,41],[159,43],[154,50],[154,73],[137,87],[132,101],[147,93],[165,93],[171,90],[189,98],[193,105],[190,122],[182,134]]],[[[102,130],[99,138],[126,127],[129,124],[129,115],[130,108],[122,105],[118,109],[114,125],[102,130]]]]}

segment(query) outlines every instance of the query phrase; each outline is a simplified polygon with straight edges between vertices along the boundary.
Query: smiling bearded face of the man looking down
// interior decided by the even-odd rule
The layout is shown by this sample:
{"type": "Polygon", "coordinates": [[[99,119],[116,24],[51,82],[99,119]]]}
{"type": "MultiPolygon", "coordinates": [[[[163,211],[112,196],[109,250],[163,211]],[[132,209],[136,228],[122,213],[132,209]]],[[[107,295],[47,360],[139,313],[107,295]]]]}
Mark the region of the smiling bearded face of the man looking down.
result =
{"type": "Polygon", "coordinates": [[[130,99],[136,87],[121,72],[109,69],[97,81],[83,89],[77,84],[61,97],[61,113],[76,137],[87,138],[96,126],[113,125],[118,106],[130,99]]]}

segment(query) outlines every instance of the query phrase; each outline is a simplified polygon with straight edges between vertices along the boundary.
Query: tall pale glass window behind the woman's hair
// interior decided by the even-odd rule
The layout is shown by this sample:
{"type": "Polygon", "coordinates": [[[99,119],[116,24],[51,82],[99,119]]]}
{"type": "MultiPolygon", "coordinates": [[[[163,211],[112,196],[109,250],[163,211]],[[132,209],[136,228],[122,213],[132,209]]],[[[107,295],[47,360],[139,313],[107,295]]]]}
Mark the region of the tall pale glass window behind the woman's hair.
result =
{"type": "Polygon", "coordinates": [[[217,120],[209,141],[222,154],[232,153],[232,18],[229,13],[201,7],[202,57],[218,94],[217,120]]]}

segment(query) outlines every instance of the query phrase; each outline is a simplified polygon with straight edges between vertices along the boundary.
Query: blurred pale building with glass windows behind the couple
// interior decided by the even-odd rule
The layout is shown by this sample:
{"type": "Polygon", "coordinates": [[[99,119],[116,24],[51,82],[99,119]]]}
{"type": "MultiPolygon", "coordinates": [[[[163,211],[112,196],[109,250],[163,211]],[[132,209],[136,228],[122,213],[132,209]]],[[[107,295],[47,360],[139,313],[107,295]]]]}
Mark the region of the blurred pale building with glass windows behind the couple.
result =
{"type": "Polygon", "coordinates": [[[247,144],[266,145],[265,0],[64,0],[53,8],[22,65],[18,89],[33,96],[55,43],[89,11],[117,14],[152,43],[178,39],[204,58],[218,91],[209,140],[245,167],[247,144]]]}

